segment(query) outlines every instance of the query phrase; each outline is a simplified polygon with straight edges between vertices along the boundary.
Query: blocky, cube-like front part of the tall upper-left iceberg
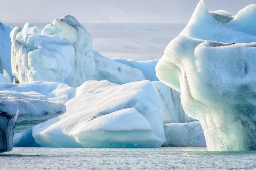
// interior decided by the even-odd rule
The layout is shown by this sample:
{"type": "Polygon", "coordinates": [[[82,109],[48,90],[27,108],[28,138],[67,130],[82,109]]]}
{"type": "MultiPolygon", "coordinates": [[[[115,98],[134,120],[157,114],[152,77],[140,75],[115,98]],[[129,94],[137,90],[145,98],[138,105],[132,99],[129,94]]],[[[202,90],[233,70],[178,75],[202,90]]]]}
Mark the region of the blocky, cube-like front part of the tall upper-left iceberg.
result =
{"type": "Polygon", "coordinates": [[[20,83],[43,80],[72,85],[75,69],[73,46],[59,35],[36,34],[36,28],[25,24],[23,29],[15,27],[11,31],[13,75],[20,83]]]}

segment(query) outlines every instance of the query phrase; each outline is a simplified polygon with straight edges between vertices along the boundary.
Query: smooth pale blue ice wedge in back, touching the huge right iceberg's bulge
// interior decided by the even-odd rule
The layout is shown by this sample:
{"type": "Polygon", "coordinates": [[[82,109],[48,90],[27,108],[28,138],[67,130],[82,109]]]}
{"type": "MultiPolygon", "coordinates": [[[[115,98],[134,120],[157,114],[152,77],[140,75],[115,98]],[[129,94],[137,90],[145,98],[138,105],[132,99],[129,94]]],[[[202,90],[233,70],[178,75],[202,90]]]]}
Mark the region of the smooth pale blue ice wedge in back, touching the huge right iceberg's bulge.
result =
{"type": "Polygon", "coordinates": [[[145,75],[146,79],[149,81],[158,81],[155,71],[158,59],[149,61],[134,61],[132,59],[126,60],[122,58],[112,58],[112,60],[139,69],[145,75]]]}

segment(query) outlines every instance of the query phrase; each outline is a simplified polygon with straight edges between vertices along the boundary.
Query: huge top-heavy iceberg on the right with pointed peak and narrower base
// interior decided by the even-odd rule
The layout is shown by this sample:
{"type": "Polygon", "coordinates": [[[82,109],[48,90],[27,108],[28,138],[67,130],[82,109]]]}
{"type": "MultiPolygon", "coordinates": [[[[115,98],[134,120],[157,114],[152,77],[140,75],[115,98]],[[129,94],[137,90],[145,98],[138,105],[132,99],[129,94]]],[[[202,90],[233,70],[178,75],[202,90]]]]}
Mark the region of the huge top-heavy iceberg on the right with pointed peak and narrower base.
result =
{"type": "Polygon", "coordinates": [[[199,2],[187,27],[166,47],[156,74],[181,92],[185,112],[202,125],[208,150],[255,150],[256,5],[227,22],[223,11],[213,13],[219,16],[199,2]]]}

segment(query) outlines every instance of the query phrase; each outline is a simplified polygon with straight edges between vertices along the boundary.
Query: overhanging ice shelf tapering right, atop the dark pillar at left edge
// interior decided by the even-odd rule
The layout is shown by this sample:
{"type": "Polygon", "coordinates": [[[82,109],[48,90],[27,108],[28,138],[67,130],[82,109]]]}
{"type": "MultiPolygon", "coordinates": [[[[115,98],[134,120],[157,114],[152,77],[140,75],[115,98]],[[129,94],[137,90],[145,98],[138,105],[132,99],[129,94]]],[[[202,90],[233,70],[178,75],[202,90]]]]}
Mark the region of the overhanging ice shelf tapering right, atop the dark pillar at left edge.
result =
{"type": "Polygon", "coordinates": [[[44,97],[38,92],[0,91],[0,112],[18,111],[14,133],[28,130],[66,111],[64,105],[48,102],[44,97]]]}

